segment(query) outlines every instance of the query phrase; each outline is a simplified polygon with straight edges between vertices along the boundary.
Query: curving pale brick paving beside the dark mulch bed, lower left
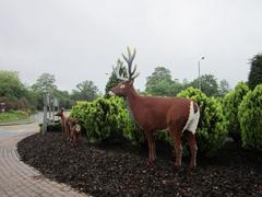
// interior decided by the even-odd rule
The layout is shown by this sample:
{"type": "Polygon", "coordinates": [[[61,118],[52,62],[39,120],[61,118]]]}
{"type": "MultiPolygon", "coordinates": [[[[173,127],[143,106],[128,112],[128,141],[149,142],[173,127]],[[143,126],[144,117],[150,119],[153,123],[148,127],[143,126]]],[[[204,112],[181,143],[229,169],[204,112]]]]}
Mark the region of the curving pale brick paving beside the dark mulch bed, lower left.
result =
{"type": "Polygon", "coordinates": [[[0,126],[0,196],[86,196],[71,187],[45,178],[37,170],[20,161],[16,143],[38,131],[38,124],[0,126]]]}

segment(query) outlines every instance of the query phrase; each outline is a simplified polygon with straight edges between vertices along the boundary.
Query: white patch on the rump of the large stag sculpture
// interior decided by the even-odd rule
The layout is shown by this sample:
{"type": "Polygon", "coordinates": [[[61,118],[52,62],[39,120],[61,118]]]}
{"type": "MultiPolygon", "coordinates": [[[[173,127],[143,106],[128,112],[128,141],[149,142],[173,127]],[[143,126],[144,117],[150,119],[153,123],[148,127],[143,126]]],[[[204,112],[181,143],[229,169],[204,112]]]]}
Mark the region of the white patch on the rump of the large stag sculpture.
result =
{"type": "Polygon", "coordinates": [[[199,118],[200,118],[200,109],[198,107],[198,112],[194,113],[194,107],[193,107],[193,102],[190,102],[190,107],[189,107],[189,117],[186,126],[183,127],[183,130],[189,130],[192,134],[195,134],[198,124],[199,124],[199,118]]]}

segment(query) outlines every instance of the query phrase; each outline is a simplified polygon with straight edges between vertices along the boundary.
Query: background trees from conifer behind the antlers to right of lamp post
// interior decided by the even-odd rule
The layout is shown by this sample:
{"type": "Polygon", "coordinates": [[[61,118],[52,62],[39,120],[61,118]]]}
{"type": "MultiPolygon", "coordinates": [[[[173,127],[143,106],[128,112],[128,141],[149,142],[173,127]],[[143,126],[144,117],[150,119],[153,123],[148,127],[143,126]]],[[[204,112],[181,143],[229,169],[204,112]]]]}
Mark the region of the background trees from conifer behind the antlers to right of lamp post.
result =
{"type": "MultiPolygon", "coordinates": [[[[127,70],[123,66],[120,69],[120,73],[127,76],[127,70]]],[[[180,82],[172,78],[171,71],[166,67],[156,67],[154,72],[146,78],[145,90],[141,93],[145,95],[176,96],[179,92],[189,86],[199,88],[199,81],[201,81],[201,90],[207,96],[223,96],[230,90],[229,83],[225,79],[218,81],[213,74],[203,74],[200,79],[196,78],[190,82],[184,79],[180,82]]],[[[112,70],[105,89],[106,94],[119,82],[120,80],[112,70]]]]}

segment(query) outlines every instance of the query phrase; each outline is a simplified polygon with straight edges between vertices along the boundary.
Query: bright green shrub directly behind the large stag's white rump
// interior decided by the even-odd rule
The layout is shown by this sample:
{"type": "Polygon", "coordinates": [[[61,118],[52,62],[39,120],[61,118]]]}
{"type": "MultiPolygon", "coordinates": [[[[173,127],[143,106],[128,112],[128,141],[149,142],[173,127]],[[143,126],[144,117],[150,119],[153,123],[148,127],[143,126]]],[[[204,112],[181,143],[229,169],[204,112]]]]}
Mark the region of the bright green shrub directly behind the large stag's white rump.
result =
{"type": "Polygon", "coordinates": [[[199,89],[188,88],[179,96],[192,99],[200,106],[200,123],[196,130],[199,153],[214,154],[221,149],[227,137],[226,120],[221,103],[214,97],[207,97],[199,89]]]}

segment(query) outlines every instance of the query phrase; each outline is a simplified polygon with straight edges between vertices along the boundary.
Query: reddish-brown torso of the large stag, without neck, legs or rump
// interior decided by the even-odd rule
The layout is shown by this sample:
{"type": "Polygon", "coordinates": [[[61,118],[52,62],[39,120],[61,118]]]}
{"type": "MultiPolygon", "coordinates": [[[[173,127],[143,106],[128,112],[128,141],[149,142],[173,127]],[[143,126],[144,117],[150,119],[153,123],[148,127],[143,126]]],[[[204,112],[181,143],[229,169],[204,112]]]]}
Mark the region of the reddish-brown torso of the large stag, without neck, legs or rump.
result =
{"type": "Polygon", "coordinates": [[[128,106],[142,129],[163,130],[171,124],[186,126],[190,100],[183,97],[158,97],[128,95],[128,106]]]}

